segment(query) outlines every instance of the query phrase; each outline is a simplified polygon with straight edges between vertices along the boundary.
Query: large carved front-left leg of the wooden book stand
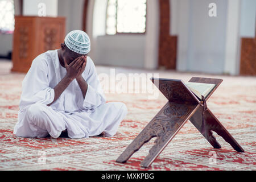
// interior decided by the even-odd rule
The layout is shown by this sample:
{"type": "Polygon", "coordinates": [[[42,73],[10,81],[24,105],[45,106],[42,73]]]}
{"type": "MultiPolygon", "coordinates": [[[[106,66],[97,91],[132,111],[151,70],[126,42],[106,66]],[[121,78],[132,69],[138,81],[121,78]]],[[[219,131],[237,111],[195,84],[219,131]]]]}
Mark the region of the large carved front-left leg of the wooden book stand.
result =
{"type": "Polygon", "coordinates": [[[125,163],[144,143],[151,138],[157,137],[154,146],[141,163],[142,167],[149,167],[197,108],[197,105],[188,103],[167,103],[138,137],[123,151],[116,162],[125,163]]]}

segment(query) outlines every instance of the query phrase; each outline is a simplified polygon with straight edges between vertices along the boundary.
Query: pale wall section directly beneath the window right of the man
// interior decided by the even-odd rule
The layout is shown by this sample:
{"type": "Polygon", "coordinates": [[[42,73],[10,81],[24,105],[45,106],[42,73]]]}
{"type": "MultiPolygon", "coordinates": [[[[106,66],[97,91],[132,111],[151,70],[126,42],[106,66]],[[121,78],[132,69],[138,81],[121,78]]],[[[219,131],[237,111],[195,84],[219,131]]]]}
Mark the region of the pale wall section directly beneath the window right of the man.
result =
{"type": "Polygon", "coordinates": [[[94,63],[143,68],[145,36],[105,35],[97,37],[94,63]]]}

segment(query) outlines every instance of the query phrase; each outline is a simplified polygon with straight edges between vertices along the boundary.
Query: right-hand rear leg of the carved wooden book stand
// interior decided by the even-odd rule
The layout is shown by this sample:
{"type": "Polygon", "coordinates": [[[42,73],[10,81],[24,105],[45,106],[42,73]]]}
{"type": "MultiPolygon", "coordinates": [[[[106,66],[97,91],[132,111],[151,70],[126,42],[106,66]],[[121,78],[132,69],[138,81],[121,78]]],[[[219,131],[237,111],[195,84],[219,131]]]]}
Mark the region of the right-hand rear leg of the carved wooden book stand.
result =
{"type": "Polygon", "coordinates": [[[195,114],[189,119],[193,123],[193,125],[200,131],[200,133],[208,140],[210,144],[214,148],[221,148],[221,145],[217,142],[216,138],[212,135],[212,131],[215,131],[218,135],[220,135],[226,142],[228,142],[234,150],[238,152],[244,152],[243,148],[237,141],[232,137],[232,135],[225,129],[225,127],[218,121],[218,119],[214,116],[214,114],[208,109],[204,113],[204,126],[205,130],[202,131],[202,111],[203,108],[200,107],[195,114]]]}

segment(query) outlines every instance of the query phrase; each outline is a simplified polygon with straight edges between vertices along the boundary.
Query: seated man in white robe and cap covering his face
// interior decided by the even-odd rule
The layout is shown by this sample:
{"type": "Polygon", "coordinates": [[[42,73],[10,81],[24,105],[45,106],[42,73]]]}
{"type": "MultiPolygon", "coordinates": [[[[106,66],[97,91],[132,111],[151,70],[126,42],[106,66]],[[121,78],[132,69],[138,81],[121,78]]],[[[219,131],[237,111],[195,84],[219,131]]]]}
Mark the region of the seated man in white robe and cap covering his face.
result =
{"type": "Polygon", "coordinates": [[[121,102],[106,103],[89,51],[88,35],[75,30],[60,49],[32,61],[22,82],[15,135],[88,138],[117,132],[127,108],[121,102]]]}

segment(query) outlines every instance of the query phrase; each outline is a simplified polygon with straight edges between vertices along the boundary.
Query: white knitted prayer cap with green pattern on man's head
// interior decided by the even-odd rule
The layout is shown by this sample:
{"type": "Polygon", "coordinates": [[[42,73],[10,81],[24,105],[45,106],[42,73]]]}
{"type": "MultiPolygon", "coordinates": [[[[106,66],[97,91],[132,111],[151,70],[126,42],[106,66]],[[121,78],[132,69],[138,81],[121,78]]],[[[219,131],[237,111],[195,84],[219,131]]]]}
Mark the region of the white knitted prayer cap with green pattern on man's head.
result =
{"type": "Polygon", "coordinates": [[[65,45],[71,51],[86,55],[90,52],[90,38],[81,30],[73,30],[65,37],[65,45]]]}

